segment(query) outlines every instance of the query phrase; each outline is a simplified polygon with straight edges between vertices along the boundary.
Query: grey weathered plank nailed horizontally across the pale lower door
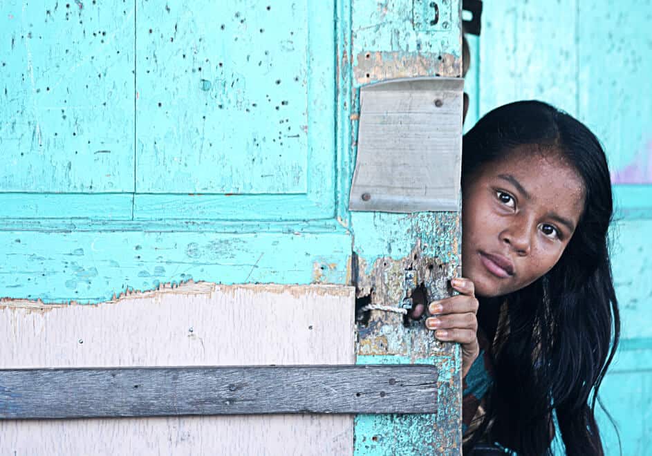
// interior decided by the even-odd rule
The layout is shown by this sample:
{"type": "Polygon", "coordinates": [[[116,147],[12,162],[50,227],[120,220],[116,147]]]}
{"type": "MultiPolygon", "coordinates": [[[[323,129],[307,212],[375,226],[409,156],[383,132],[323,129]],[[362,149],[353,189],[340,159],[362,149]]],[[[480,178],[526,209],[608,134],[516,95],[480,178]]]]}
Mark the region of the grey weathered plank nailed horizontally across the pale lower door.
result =
{"type": "Polygon", "coordinates": [[[0,370],[0,419],[433,413],[434,365],[0,370]]]}

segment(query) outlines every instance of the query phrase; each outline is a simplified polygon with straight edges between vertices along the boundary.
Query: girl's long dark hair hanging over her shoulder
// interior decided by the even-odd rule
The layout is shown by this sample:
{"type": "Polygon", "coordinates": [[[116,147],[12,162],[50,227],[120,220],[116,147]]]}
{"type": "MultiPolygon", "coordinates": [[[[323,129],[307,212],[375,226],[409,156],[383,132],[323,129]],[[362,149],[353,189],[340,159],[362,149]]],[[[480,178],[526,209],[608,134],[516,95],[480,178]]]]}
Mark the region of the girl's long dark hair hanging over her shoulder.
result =
{"type": "Polygon", "coordinates": [[[550,272],[507,296],[481,300],[481,310],[494,310],[494,321],[480,312],[480,326],[495,330],[502,309],[507,331],[492,352],[494,379],[471,444],[485,437],[525,455],[552,454],[554,409],[568,454],[603,455],[595,401],[617,348],[620,316],[608,252],[613,202],[602,146],[584,124],[549,104],[507,104],[464,136],[463,185],[478,167],[530,144],[561,153],[575,168],[584,181],[584,211],[550,272]]]}

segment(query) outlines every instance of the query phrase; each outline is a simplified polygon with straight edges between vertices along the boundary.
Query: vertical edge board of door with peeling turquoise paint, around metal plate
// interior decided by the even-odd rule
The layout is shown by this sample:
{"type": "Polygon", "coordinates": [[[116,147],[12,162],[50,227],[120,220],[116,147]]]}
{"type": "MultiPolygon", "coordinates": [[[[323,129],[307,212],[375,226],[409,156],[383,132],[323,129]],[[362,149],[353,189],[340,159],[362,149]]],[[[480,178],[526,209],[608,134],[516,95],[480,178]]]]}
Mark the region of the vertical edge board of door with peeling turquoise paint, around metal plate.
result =
{"type": "MultiPolygon", "coordinates": [[[[415,8],[419,14],[434,15],[427,2],[351,2],[351,48],[342,50],[341,56],[351,68],[349,144],[354,155],[360,86],[398,77],[461,75],[461,2],[438,3],[443,20],[429,29],[429,21],[416,21],[414,16],[415,8]]],[[[358,296],[396,307],[420,283],[442,297],[450,291],[445,279],[455,274],[459,265],[458,213],[354,212],[350,220],[358,296]]],[[[460,453],[458,347],[438,343],[422,323],[406,326],[402,315],[390,312],[371,311],[359,331],[358,363],[434,363],[443,375],[438,383],[443,399],[433,415],[358,415],[354,453],[460,453]]]]}

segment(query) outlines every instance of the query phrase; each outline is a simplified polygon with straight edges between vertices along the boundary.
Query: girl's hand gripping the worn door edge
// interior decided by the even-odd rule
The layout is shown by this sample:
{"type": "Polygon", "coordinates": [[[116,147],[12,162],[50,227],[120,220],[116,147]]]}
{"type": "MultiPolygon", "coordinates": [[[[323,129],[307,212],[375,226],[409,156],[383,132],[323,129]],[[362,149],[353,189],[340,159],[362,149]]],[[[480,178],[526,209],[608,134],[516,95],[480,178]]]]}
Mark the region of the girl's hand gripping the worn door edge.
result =
{"type": "Polygon", "coordinates": [[[435,330],[435,337],[440,341],[462,344],[464,378],[480,352],[476,319],[478,300],[474,296],[473,282],[468,278],[453,278],[451,286],[460,294],[430,303],[428,312],[431,316],[426,319],[426,327],[435,330]]]}

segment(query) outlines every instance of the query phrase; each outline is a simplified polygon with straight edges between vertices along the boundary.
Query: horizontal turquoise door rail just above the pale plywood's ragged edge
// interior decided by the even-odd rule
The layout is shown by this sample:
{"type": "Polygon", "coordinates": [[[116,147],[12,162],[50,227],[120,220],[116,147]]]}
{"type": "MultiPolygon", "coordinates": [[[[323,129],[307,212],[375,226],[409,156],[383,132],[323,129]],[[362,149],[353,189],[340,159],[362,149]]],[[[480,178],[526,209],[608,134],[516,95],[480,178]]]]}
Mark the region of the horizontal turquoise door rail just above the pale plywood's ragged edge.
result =
{"type": "Polygon", "coordinates": [[[0,296],[46,303],[99,303],[127,289],[144,291],[190,279],[346,284],[351,256],[351,236],[344,230],[289,235],[0,231],[0,243],[10,258],[0,265],[0,296]]]}

